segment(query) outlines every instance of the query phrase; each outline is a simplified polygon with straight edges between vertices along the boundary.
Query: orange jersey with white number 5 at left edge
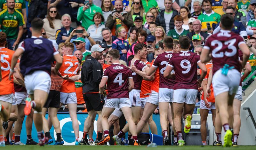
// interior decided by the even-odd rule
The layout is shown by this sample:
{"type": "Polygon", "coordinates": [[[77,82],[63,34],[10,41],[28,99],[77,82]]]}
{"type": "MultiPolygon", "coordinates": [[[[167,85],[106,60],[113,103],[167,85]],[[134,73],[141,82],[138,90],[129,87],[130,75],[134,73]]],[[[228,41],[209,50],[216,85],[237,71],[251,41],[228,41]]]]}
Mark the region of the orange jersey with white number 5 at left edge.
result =
{"type": "Polygon", "coordinates": [[[2,72],[2,81],[0,82],[0,95],[11,94],[14,91],[13,76],[12,81],[9,80],[9,73],[11,69],[12,55],[14,51],[7,48],[0,48],[0,63],[2,72]]]}

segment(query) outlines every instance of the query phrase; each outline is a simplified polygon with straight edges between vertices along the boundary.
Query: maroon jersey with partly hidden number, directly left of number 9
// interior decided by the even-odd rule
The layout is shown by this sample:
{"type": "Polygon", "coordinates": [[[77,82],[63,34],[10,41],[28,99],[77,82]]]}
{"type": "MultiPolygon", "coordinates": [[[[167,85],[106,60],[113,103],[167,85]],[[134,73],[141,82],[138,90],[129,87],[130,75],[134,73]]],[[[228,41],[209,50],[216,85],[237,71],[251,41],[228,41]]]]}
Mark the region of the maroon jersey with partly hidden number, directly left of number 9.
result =
{"type": "Polygon", "coordinates": [[[168,88],[173,89],[175,80],[174,79],[167,79],[164,77],[164,70],[168,65],[169,59],[172,57],[174,53],[172,51],[165,51],[164,53],[156,56],[153,67],[158,67],[159,69],[159,88],[168,88]]]}

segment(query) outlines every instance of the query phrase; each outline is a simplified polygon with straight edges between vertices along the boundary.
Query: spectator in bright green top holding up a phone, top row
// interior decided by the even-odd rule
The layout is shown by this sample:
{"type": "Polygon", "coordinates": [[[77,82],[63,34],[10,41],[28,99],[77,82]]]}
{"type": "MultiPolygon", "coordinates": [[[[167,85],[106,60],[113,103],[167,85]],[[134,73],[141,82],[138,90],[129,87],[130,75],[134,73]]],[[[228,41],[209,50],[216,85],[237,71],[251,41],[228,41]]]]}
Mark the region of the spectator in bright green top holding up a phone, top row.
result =
{"type": "Polygon", "coordinates": [[[93,17],[96,12],[100,12],[102,14],[101,8],[94,5],[92,0],[89,0],[89,4],[79,7],[77,12],[77,20],[82,21],[82,26],[85,28],[85,30],[94,24],[93,17]]]}

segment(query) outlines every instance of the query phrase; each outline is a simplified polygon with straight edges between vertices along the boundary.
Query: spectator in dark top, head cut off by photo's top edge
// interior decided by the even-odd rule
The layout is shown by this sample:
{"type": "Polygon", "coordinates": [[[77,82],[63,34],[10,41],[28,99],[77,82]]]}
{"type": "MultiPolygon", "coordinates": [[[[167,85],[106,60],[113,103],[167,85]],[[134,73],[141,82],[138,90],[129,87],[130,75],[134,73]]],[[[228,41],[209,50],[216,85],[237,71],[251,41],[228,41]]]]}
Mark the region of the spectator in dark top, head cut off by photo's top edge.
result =
{"type": "Polygon", "coordinates": [[[55,6],[62,16],[69,14],[72,21],[72,26],[76,27],[81,23],[76,19],[78,8],[84,6],[84,0],[48,0],[49,7],[55,6]]]}

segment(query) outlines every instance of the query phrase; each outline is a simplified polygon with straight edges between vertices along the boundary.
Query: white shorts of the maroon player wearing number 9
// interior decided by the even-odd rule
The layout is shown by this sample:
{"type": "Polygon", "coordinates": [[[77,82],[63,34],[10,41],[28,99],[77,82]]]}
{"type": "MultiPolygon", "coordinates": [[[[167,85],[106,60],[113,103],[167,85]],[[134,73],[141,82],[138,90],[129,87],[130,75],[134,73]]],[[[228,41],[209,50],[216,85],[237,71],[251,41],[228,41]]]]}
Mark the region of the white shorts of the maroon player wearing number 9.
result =
{"type": "Polygon", "coordinates": [[[173,103],[196,104],[198,90],[177,89],[173,92],[173,103]]]}

